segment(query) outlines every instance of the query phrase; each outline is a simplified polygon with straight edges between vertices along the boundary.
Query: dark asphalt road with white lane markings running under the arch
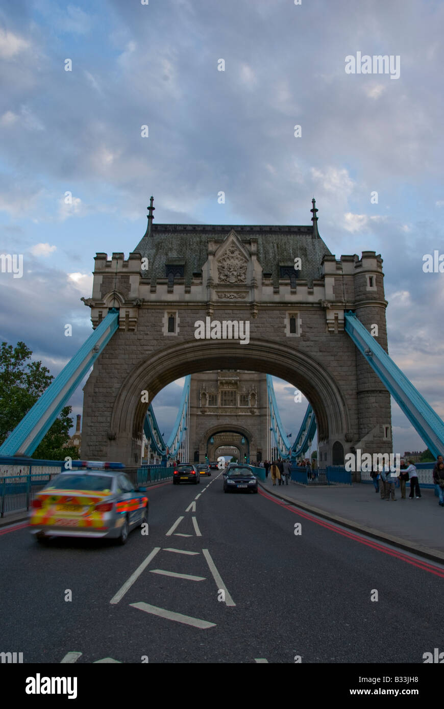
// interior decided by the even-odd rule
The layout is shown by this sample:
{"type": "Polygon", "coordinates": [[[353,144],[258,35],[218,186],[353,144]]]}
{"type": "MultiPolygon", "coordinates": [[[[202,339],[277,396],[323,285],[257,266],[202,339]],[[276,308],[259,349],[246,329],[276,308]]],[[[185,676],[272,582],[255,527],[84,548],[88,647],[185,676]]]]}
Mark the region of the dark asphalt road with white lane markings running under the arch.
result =
{"type": "Polygon", "coordinates": [[[40,546],[27,527],[1,530],[1,652],[26,663],[421,663],[442,646],[443,566],[262,491],[224,494],[221,474],[148,494],[149,534],[134,530],[124,547],[40,546]]]}

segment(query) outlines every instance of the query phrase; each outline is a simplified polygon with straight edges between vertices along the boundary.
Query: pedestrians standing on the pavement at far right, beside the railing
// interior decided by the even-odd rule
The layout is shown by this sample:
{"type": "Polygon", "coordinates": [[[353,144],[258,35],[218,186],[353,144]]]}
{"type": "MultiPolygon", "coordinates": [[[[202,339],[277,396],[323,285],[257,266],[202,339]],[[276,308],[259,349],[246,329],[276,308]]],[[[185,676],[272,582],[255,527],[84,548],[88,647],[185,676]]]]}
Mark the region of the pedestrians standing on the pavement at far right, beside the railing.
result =
{"type": "MultiPolygon", "coordinates": [[[[412,460],[405,462],[404,458],[401,458],[401,464],[399,466],[400,473],[399,476],[392,477],[392,472],[395,469],[391,469],[388,465],[384,465],[382,471],[371,470],[370,476],[374,484],[375,493],[380,493],[382,500],[393,500],[396,501],[394,494],[395,485],[398,484],[401,489],[401,500],[406,499],[406,484],[410,481],[410,494],[409,500],[421,499],[421,489],[419,487],[418,481],[418,471],[412,460]]],[[[444,507],[444,461],[443,456],[438,455],[438,458],[433,468],[433,483],[438,492],[439,506],[444,507]]]]}

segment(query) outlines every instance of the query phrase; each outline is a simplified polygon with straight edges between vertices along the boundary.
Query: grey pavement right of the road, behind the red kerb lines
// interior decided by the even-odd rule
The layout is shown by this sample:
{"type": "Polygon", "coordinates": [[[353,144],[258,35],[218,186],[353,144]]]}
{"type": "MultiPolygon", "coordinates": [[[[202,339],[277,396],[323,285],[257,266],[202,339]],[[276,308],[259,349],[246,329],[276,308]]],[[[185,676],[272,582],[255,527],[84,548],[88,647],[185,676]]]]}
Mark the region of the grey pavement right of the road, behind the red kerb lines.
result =
{"type": "Polygon", "coordinates": [[[406,499],[395,489],[396,505],[381,500],[374,486],[354,483],[352,486],[272,486],[270,476],[259,481],[261,488],[277,498],[351,527],[379,541],[389,542],[422,557],[444,562],[444,508],[438,506],[433,489],[421,490],[421,499],[406,499]]]}

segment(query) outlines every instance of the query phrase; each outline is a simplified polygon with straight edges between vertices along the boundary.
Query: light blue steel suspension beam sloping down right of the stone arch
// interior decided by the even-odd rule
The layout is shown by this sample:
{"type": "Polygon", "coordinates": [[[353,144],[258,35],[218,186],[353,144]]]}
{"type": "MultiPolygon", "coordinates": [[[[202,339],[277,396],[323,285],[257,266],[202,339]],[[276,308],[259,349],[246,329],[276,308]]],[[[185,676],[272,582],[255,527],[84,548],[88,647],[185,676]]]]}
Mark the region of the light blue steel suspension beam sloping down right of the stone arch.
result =
{"type": "Polygon", "coordinates": [[[355,313],[344,314],[345,332],[367,359],[384,386],[392,394],[428,449],[436,457],[444,453],[444,422],[429,406],[411,381],[401,372],[379,342],[370,335],[355,313]]]}

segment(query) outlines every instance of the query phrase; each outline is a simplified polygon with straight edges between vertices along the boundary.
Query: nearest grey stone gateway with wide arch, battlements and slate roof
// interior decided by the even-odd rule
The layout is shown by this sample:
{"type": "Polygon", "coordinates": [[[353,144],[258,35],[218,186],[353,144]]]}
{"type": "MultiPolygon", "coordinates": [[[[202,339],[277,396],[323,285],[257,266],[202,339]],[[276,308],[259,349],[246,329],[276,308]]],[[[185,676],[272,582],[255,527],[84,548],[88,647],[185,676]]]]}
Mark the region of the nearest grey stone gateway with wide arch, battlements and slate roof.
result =
{"type": "Polygon", "coordinates": [[[316,223],[152,225],[127,260],[122,253],[111,260],[96,255],[85,303],[94,326],[113,291],[120,296],[119,329],[84,386],[85,458],[138,464],[148,406],[142,391],[152,401],[180,376],[224,367],[274,374],[307,396],[321,465],[331,464],[335,441],[344,453],[390,452],[381,423],[391,418],[389,393],[343,329],[344,311],[353,310],[367,329],[378,325],[387,350],[382,259],[375,252],[337,260],[316,223]],[[295,257],[296,280],[289,278],[295,257]],[[174,278],[167,277],[179,262],[174,278]],[[167,328],[171,314],[174,332],[167,328]],[[248,323],[249,342],[196,339],[195,323],[206,318],[248,323]]]}

